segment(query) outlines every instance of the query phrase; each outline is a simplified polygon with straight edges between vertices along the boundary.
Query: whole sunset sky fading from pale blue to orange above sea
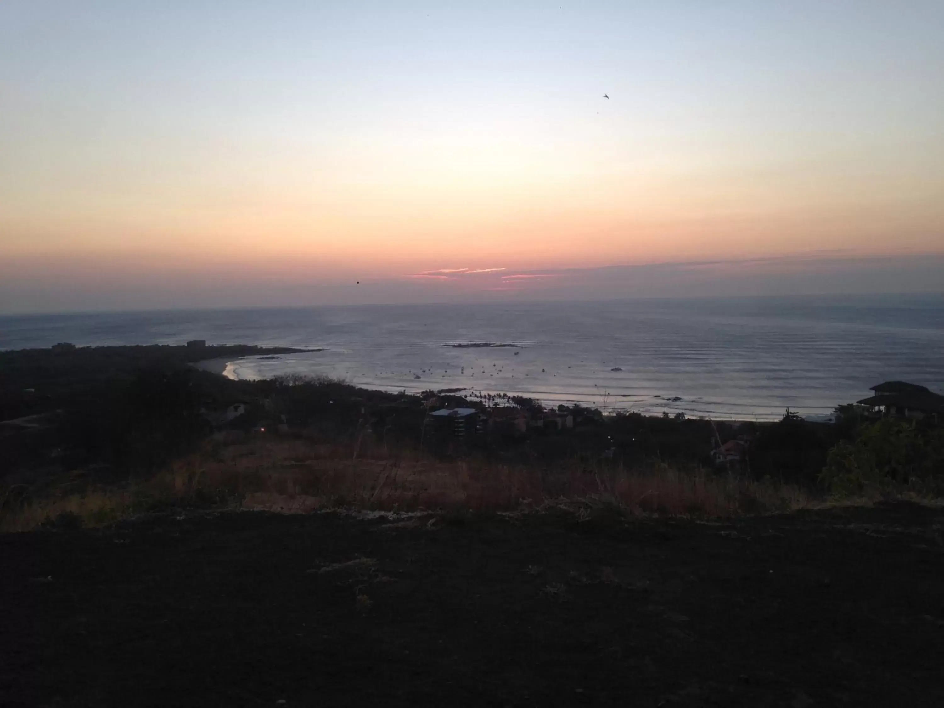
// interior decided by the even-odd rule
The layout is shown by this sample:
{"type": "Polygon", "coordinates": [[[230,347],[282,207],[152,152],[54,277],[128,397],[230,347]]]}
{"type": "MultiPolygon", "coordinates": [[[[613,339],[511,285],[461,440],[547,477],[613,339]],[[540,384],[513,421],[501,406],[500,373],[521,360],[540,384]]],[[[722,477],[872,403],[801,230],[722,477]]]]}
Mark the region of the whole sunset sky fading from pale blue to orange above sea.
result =
{"type": "Polygon", "coordinates": [[[0,312],[939,292],[942,36],[939,0],[4,0],[0,312]]]}

